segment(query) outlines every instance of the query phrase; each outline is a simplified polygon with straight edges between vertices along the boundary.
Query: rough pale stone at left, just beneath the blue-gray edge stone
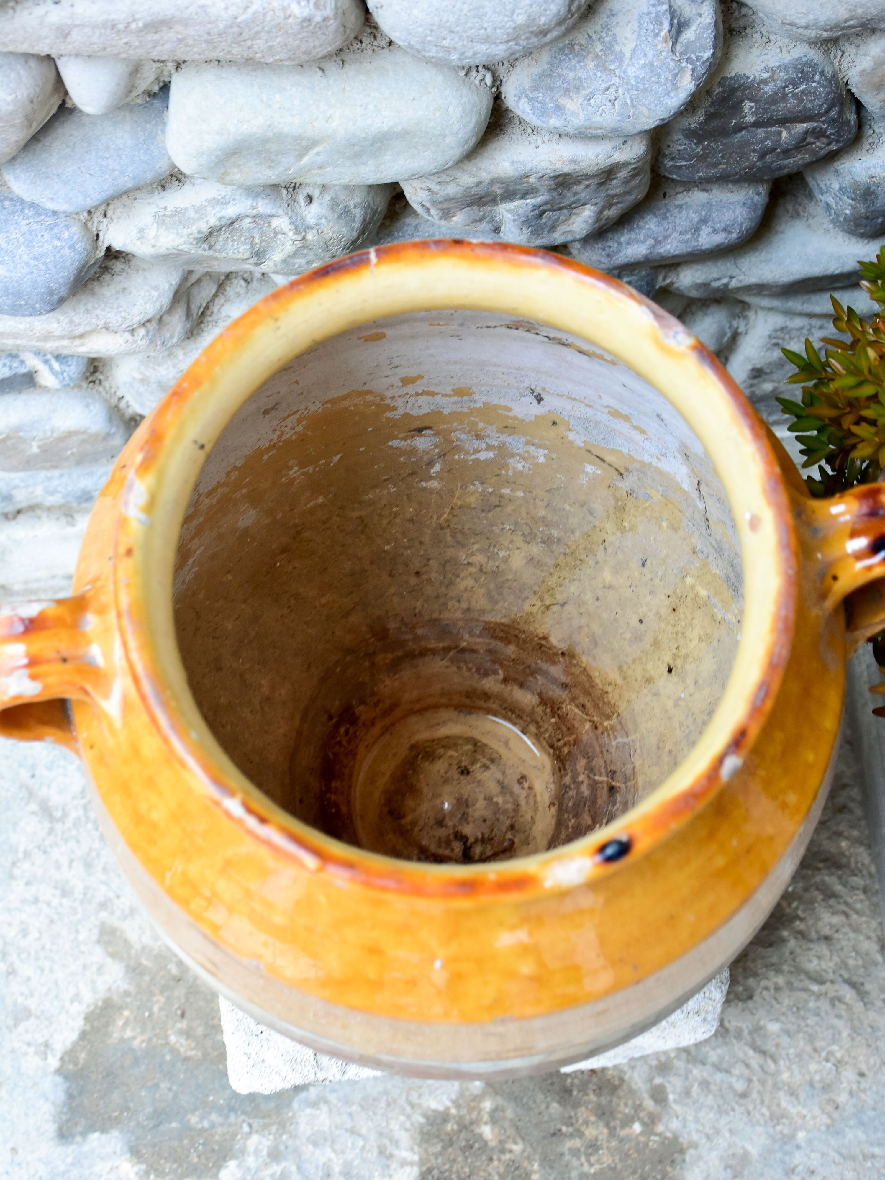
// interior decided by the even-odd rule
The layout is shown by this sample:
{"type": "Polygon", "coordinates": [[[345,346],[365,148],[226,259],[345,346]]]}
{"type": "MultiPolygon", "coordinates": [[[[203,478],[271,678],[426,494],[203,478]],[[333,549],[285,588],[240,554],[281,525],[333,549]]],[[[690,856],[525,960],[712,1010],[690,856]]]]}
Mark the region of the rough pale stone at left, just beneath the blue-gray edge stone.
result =
{"type": "Polygon", "coordinates": [[[55,310],[0,314],[0,349],[78,356],[159,352],[188,334],[221,278],[130,255],[109,256],[55,310]]]}

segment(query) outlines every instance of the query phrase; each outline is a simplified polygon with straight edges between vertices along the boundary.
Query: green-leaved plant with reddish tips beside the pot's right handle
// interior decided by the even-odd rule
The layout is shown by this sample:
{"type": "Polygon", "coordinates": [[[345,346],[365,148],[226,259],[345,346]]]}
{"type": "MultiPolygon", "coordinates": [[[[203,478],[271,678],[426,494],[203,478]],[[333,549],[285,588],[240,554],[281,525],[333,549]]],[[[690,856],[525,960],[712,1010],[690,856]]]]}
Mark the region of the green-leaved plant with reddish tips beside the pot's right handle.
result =
{"type": "MultiPolygon", "coordinates": [[[[860,286],[885,308],[885,245],[876,262],[859,262],[860,286]]],[[[834,496],[856,484],[874,484],[885,471],[885,313],[864,320],[853,307],[844,308],[832,295],[833,327],[850,339],[824,336],[824,356],[809,339],[805,356],[789,348],[781,352],[795,366],[788,385],[802,387],[801,402],[778,398],[794,421],[787,430],[796,435],[805,458],[802,467],[817,467],[806,476],[812,496],[834,496]]],[[[879,670],[885,675],[885,630],[870,642],[879,670]]],[[[883,694],[885,684],[871,691],[883,694]]],[[[885,706],[873,709],[885,717],[885,706]]]]}

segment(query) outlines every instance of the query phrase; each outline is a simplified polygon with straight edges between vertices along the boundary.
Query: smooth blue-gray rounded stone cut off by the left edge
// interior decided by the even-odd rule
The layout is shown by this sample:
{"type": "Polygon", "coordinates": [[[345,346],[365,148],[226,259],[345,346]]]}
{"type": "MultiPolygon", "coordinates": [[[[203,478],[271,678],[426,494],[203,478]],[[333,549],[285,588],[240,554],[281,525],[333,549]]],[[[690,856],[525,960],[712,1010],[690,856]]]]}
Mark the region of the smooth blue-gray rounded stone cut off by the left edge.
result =
{"type": "Polygon", "coordinates": [[[0,242],[0,317],[52,312],[88,277],[99,253],[96,235],[73,217],[5,194],[0,242]]]}

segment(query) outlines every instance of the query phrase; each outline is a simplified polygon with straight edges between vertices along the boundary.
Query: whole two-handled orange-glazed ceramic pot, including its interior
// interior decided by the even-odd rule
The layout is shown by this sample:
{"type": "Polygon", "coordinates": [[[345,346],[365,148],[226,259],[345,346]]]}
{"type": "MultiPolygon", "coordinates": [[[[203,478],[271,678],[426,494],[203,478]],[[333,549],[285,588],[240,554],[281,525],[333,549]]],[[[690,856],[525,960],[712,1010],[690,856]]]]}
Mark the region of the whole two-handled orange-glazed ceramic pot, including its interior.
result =
{"type": "Polygon", "coordinates": [[[883,489],[812,500],[628,287],[369,250],[140,425],[73,597],[0,616],[0,726],[80,755],[159,929],[256,1018],[401,1073],[550,1069],[771,911],[884,549],[883,489]]]}

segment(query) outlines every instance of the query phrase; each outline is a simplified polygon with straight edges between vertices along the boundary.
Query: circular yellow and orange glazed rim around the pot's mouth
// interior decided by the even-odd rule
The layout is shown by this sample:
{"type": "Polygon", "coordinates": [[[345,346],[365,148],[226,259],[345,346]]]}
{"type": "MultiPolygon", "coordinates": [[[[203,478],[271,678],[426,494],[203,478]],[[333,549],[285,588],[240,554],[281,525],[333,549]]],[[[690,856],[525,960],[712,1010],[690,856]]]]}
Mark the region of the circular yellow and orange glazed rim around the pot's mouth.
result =
{"type": "Polygon", "coordinates": [[[741,773],[780,686],[798,594],[786,489],[765,427],[716,359],[631,288],[560,255],[463,241],[406,242],[349,255],[273,291],[225,328],[124,452],[114,542],[117,622],[158,738],[192,789],[256,840],[310,871],[401,894],[466,898],[566,890],[622,870],[741,773]],[[178,653],[172,578],[178,535],[199,471],[240,406],[315,345],[408,312],[452,308],[533,320],[604,348],[689,422],[712,459],[741,543],[745,610],[725,693],[676,769],[612,824],[553,851],[480,865],[401,861],[342,844],[273,802],[203,720],[178,653]],[[129,471],[123,463],[129,460],[129,471]]]}

